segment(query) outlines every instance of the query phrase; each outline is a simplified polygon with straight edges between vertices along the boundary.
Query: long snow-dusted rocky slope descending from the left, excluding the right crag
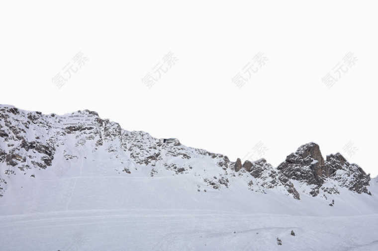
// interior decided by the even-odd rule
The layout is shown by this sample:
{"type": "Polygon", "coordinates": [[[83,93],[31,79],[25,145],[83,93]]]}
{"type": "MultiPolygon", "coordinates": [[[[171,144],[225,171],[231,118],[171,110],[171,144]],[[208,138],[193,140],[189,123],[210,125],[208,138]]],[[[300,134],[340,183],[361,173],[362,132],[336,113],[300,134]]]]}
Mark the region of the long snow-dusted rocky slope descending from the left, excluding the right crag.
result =
{"type": "MultiPolygon", "coordinates": [[[[198,174],[200,183],[213,189],[227,188],[229,179],[236,173],[235,164],[226,156],[180,142],[163,143],[143,131],[126,131],[88,110],[63,116],[26,112],[10,106],[2,106],[0,111],[0,161],[4,172],[1,195],[7,189],[6,181],[12,177],[35,178],[36,169],[51,169],[59,175],[78,164],[79,159],[87,158],[84,150],[94,155],[104,154],[111,162],[110,169],[122,174],[131,174],[138,168],[148,169],[151,177],[162,170],[184,174],[202,170],[209,173],[209,169],[214,169],[215,176],[199,177],[198,174]]],[[[271,166],[269,170],[274,172],[271,166]]],[[[264,184],[265,180],[263,177],[261,182],[256,182],[264,184]]],[[[281,180],[273,180],[275,183],[268,188],[283,185],[281,180]]]]}

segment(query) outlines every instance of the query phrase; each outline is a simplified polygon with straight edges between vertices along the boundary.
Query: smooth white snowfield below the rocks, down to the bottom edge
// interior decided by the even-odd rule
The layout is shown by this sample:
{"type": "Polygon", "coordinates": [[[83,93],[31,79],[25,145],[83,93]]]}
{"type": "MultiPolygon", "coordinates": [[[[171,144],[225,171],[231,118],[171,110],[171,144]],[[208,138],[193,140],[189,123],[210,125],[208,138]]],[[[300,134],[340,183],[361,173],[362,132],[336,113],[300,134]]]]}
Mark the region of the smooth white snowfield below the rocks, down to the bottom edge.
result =
{"type": "Polygon", "coordinates": [[[61,177],[36,170],[22,187],[9,184],[0,250],[378,250],[375,195],[343,190],[329,206],[275,189],[246,192],[240,179],[220,191],[191,174],[120,176],[101,157],[76,164],[61,177]]]}

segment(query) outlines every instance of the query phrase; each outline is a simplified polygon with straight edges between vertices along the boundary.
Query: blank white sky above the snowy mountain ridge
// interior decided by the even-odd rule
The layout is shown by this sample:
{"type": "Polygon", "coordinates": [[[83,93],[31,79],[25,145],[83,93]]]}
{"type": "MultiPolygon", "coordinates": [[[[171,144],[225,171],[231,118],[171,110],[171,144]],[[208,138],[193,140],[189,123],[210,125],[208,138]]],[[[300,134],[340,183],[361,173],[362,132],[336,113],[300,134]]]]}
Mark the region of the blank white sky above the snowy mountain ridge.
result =
{"type": "Polygon", "coordinates": [[[314,141],[324,158],[341,152],[375,177],[374,3],[1,1],[0,103],[89,109],[232,161],[257,156],[262,142],[259,157],[273,166],[314,141]],[[350,51],[358,60],[348,65],[350,51]],[[88,61],[58,88],[52,78],[67,77],[62,68],[79,52],[88,61]],[[152,68],[167,66],[168,52],[178,60],[147,88],[142,77],[159,77],[152,68]],[[243,67],[259,52],[268,60],[249,77],[243,67]],[[247,79],[241,88],[231,81],[238,72],[247,79]],[[338,79],[331,88],[322,82],[328,72],[338,79]]]}

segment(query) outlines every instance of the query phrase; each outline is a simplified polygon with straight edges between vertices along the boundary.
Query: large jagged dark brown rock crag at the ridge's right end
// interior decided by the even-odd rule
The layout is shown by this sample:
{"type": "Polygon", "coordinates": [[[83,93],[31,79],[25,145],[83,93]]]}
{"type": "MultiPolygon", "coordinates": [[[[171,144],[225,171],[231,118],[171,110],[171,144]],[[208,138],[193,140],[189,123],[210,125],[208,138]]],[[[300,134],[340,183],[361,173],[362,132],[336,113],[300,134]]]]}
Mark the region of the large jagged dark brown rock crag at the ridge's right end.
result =
{"type": "Polygon", "coordinates": [[[309,192],[313,196],[319,193],[319,189],[337,193],[337,189],[323,186],[329,180],[358,193],[369,193],[366,186],[369,186],[370,177],[361,167],[349,164],[340,153],[331,154],[324,161],[319,146],[313,142],[300,146],[295,153],[288,155],[277,169],[288,179],[313,185],[309,192]]]}

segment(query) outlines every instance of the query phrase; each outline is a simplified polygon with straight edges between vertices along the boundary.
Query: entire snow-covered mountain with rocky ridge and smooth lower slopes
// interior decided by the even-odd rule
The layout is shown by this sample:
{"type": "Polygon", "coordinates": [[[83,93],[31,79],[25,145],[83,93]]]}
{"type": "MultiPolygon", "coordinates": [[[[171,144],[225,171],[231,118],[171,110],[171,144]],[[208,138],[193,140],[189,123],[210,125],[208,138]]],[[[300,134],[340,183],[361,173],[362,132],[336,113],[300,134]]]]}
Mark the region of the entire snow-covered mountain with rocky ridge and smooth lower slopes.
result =
{"type": "Polygon", "coordinates": [[[0,240],[18,240],[6,250],[30,250],[16,233],[35,227],[35,250],[78,248],[73,225],[85,239],[79,250],[378,247],[377,178],[340,153],[324,160],[313,142],[274,168],[127,131],[89,110],[0,105],[0,171],[0,223],[9,227],[0,240]]]}

